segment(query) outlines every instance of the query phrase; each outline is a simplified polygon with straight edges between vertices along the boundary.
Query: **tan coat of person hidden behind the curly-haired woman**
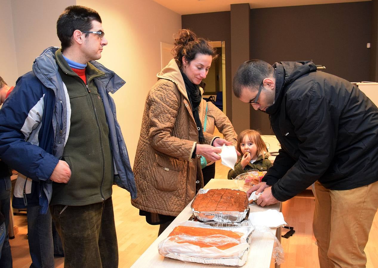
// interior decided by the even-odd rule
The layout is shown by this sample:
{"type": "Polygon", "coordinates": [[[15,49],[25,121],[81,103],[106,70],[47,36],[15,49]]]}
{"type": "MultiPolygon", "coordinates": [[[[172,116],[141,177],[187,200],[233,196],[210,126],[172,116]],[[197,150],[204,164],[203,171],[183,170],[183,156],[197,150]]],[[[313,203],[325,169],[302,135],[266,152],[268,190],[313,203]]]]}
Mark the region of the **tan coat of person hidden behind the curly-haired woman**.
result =
{"type": "MultiPolygon", "coordinates": [[[[228,117],[212,102],[206,102],[202,99],[200,104],[200,118],[202,122],[202,127],[204,127],[205,115],[206,120],[206,132],[209,134],[214,134],[215,126],[218,131],[223,134],[223,138],[229,142],[232,142],[232,145],[237,145],[237,134],[234,130],[234,127],[231,124],[231,121],[228,117]],[[206,114],[206,103],[208,105],[208,112],[206,114]]],[[[207,166],[214,163],[208,162],[207,166]]]]}

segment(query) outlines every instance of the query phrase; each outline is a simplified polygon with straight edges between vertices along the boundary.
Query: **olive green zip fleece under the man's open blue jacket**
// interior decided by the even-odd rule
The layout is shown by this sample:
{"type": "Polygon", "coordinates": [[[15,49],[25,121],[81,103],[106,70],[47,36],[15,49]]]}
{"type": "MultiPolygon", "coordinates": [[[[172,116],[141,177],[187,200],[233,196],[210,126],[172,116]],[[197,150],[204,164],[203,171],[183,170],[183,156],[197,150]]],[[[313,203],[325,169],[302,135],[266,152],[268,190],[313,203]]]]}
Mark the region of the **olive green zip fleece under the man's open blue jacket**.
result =
{"type": "Polygon", "coordinates": [[[71,122],[69,136],[62,156],[62,160],[70,166],[71,179],[67,184],[53,182],[50,205],[99,203],[112,196],[114,174],[104,105],[93,82],[93,79],[105,73],[88,63],[85,85],[68,66],[60,49],[55,57],[71,107],[71,115],[67,115],[71,122]]]}

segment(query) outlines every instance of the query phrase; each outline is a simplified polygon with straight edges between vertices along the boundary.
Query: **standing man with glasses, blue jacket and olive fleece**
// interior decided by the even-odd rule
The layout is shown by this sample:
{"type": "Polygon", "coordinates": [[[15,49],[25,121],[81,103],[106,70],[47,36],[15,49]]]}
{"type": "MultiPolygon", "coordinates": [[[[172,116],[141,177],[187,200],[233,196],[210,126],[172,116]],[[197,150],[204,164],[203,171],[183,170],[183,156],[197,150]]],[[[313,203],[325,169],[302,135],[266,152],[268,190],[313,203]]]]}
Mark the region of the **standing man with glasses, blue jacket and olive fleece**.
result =
{"type": "Polygon", "coordinates": [[[125,82],[95,61],[108,43],[95,10],[67,7],[57,35],[62,48],[36,58],[0,111],[0,158],[38,183],[40,212],[50,203],[65,266],[118,267],[112,185],[132,198],[136,187],[108,92],[125,82]]]}

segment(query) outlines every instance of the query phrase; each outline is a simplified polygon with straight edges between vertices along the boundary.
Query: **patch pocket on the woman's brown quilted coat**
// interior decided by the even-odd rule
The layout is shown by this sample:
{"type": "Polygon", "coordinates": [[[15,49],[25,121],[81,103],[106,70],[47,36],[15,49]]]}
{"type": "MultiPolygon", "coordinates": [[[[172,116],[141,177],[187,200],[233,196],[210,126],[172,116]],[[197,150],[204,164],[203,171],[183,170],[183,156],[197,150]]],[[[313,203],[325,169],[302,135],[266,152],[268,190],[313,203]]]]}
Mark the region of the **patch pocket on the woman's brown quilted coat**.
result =
{"type": "Polygon", "coordinates": [[[155,154],[155,159],[152,167],[152,185],[160,191],[176,191],[182,176],[183,160],[160,154],[155,154]]]}

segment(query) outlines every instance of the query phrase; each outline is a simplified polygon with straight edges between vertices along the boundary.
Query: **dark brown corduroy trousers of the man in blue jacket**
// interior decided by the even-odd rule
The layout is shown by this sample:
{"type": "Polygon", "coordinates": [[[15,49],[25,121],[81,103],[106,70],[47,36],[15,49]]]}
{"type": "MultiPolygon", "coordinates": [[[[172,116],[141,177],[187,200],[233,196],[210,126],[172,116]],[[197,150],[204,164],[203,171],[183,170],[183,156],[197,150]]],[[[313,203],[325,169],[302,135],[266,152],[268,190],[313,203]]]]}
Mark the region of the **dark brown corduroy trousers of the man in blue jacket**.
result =
{"type": "Polygon", "coordinates": [[[65,268],[118,267],[112,197],[86,206],[50,206],[62,238],[65,268]]]}

